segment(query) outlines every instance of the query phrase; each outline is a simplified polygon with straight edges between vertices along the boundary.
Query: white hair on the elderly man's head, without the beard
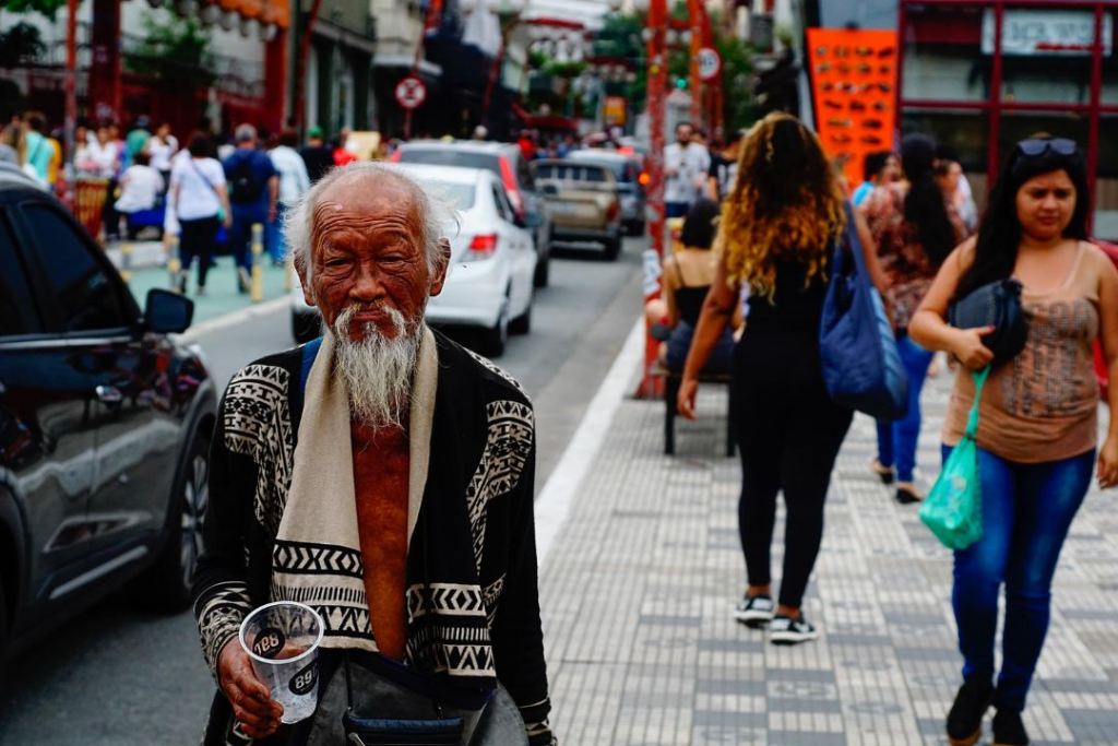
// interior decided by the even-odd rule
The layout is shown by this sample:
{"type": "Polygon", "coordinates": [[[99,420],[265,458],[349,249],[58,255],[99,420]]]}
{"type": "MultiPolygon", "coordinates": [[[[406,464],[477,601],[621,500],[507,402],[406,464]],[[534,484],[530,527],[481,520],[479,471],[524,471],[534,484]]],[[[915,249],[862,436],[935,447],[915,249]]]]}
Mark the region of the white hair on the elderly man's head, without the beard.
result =
{"type": "Polygon", "coordinates": [[[410,192],[420,217],[420,240],[424,254],[427,256],[427,270],[435,272],[438,266],[442,249],[439,240],[446,237],[446,226],[457,223],[457,211],[454,206],[433,190],[424,187],[402,169],[373,161],[358,161],[343,168],[334,168],[319,179],[303,195],[292,209],[287,210],[283,221],[284,239],[292,252],[295,266],[300,267],[311,281],[311,234],[314,221],[314,209],[322,193],[331,186],[341,181],[377,182],[385,178],[395,179],[410,192]]]}

